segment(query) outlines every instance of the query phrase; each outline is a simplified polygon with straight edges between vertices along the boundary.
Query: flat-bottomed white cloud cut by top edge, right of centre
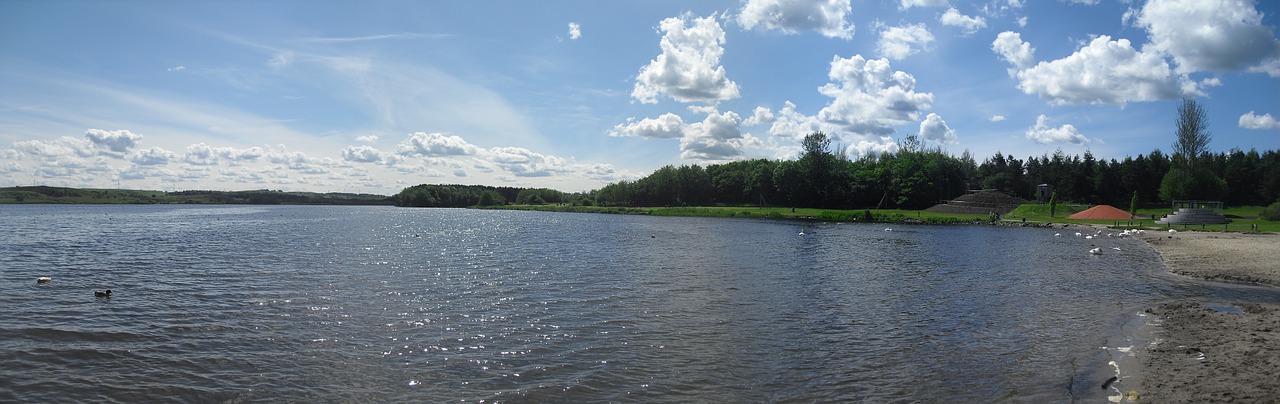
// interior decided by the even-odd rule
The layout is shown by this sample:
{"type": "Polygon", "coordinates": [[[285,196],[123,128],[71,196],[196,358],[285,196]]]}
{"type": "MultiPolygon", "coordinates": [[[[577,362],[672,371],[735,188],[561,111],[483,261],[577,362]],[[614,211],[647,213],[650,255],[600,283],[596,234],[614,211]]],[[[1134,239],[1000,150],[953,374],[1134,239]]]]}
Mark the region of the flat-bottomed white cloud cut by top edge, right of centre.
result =
{"type": "Polygon", "coordinates": [[[748,0],[737,15],[745,29],[760,27],[795,35],[817,31],[831,38],[852,38],[854,24],[845,20],[850,0],[748,0]]]}

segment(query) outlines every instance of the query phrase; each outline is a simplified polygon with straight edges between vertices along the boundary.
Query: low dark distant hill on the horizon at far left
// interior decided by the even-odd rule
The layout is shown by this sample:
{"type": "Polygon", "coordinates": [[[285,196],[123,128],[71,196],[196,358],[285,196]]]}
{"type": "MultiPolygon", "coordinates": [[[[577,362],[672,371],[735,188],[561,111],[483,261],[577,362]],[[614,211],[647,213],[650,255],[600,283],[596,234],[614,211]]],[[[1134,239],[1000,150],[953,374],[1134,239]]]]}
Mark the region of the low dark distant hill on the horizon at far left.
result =
{"type": "Polygon", "coordinates": [[[256,190],[137,190],[64,187],[0,188],[0,203],[206,203],[206,205],[394,205],[388,196],[256,190]]]}

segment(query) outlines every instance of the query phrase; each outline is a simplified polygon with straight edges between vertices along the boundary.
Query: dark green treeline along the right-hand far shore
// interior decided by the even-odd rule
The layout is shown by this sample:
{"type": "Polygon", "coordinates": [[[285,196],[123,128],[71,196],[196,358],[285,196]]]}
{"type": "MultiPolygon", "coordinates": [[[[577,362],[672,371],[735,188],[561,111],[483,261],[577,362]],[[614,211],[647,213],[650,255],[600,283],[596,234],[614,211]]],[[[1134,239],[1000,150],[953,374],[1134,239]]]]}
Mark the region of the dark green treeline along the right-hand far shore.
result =
{"type": "MultiPolygon", "coordinates": [[[[1025,160],[996,152],[980,164],[966,150],[960,157],[909,136],[892,153],[851,160],[831,150],[818,132],[805,137],[797,160],[745,160],[727,164],[664,166],[634,180],[590,193],[600,206],[795,206],[824,208],[925,208],[969,189],[997,189],[1032,199],[1036,185],[1051,184],[1057,201],[1128,207],[1134,192],[1143,206],[1166,202],[1161,182],[1183,156],[1158,148],[1123,161],[1091,152],[1025,160]]],[[[1280,153],[1256,150],[1203,152],[1198,159],[1224,183],[1208,194],[1230,206],[1268,205],[1280,198],[1280,153]]],[[[1185,196],[1172,194],[1183,198],[1185,196]]]]}

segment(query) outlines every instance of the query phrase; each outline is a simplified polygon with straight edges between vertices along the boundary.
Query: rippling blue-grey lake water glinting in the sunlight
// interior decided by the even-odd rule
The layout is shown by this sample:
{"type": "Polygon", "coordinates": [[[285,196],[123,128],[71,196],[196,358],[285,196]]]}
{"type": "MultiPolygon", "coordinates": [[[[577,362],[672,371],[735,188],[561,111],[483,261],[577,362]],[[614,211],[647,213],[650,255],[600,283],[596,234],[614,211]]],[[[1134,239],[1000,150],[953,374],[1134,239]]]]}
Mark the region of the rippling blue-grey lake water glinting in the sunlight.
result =
{"type": "Polygon", "coordinates": [[[0,206],[0,401],[1101,400],[1143,308],[1280,300],[1059,231],[0,206]]]}

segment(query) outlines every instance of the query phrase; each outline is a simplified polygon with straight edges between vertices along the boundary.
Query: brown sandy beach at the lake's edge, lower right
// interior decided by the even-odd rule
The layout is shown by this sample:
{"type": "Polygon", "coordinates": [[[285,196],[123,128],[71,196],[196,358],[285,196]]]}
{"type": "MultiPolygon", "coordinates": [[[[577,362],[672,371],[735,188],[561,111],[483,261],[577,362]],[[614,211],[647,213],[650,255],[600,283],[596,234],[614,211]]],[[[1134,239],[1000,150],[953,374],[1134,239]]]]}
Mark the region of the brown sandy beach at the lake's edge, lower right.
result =
{"type": "MultiPolygon", "coordinates": [[[[1280,235],[1148,231],[1174,274],[1280,288],[1280,235]]],[[[1147,309],[1153,343],[1138,353],[1138,401],[1280,401],[1280,302],[1170,302],[1147,309]]]]}

